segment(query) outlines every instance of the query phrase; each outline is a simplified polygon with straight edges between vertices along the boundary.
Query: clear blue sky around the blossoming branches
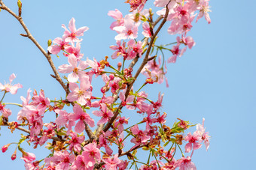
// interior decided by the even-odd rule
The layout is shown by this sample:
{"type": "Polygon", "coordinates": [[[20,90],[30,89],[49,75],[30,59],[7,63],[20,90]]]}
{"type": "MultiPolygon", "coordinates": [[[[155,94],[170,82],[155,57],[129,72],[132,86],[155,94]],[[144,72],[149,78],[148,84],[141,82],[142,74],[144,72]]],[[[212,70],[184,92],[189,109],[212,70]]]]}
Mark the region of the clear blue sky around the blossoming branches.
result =
{"type": "MultiPolygon", "coordinates": [[[[16,1],[4,2],[17,11],[16,1]]],[[[194,37],[197,45],[192,50],[188,49],[175,64],[168,64],[169,88],[165,84],[148,88],[154,88],[151,94],[153,98],[158,91],[165,94],[163,112],[168,113],[170,124],[175,118],[193,123],[201,123],[202,118],[206,118],[206,130],[212,139],[208,152],[203,147],[194,153],[193,161],[199,170],[254,167],[255,5],[256,2],[252,0],[210,1],[212,23],[208,25],[201,19],[194,24],[189,35],[194,37]]],[[[47,49],[47,40],[62,36],[61,25],[68,25],[74,17],[77,28],[84,25],[90,28],[84,34],[81,45],[84,57],[101,59],[113,52],[109,46],[115,44],[116,33],[109,29],[113,19],[107,13],[115,8],[123,14],[128,12],[128,4],[123,4],[121,0],[23,0],[23,20],[35,39],[47,49]]],[[[28,88],[38,91],[42,88],[50,98],[63,97],[64,91],[50,76],[52,72],[47,60],[30,40],[19,35],[25,32],[17,20],[2,10],[0,21],[0,82],[8,81],[11,73],[16,73],[14,82],[23,85],[23,89],[15,96],[8,95],[5,101],[21,103],[20,96],[26,96],[28,88]]],[[[167,34],[166,30],[160,36],[163,43],[175,41],[175,36],[167,34]]],[[[65,58],[57,59],[54,56],[53,61],[56,66],[66,62],[65,58]]],[[[16,118],[17,112],[18,109],[14,107],[11,118],[16,118]]],[[[5,127],[0,133],[1,147],[9,142],[17,142],[20,134],[11,134],[5,127]]],[[[23,169],[23,160],[11,161],[13,151],[14,148],[9,148],[5,154],[0,153],[2,169],[23,169]]],[[[38,155],[45,150],[26,148],[26,151],[35,152],[40,157],[38,155]]],[[[19,157],[20,154],[17,155],[19,157]]]]}

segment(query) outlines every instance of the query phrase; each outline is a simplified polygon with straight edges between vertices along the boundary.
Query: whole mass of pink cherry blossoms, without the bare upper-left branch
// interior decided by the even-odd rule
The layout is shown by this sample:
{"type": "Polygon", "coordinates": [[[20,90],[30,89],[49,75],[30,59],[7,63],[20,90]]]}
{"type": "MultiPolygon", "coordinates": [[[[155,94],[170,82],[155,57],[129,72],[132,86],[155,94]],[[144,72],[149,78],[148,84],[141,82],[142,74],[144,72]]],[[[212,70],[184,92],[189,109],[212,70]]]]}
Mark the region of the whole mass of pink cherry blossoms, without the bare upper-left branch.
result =
{"type": "Polygon", "coordinates": [[[195,45],[187,32],[192,28],[196,16],[197,20],[205,16],[206,21],[211,22],[208,14],[209,0],[156,0],[154,5],[163,8],[157,11],[158,19],[155,21],[152,10],[144,9],[146,2],[126,1],[131,7],[131,13],[126,16],[117,9],[108,12],[108,16],[115,19],[110,28],[117,33],[114,37],[116,45],[110,46],[114,50],[111,58],[123,61],[117,64],[117,68],[111,64],[108,56],[100,61],[96,58],[84,60],[80,37],[89,28],[84,26],[77,29],[74,18],[69,21],[68,28],[62,25],[62,37],[48,41],[48,53],[63,55],[68,61],[68,64],[60,65],[57,70],[66,79],[66,99],[50,100],[45,97],[43,90],[38,94],[37,91],[32,92],[29,89],[26,97],[21,97],[23,103],[17,104],[22,108],[17,114],[17,121],[9,121],[11,109],[5,108],[8,104],[3,102],[5,94],[16,94],[22,85],[11,85],[14,74],[10,76],[10,83],[0,83],[0,90],[4,92],[0,101],[0,126],[8,126],[11,131],[23,130],[28,133],[27,136],[22,135],[19,142],[3,146],[2,152],[7,151],[10,145],[17,145],[11,159],[16,159],[18,149],[23,154],[21,159],[25,161],[27,170],[122,170],[131,169],[132,166],[141,170],[196,169],[191,161],[194,151],[201,148],[203,143],[206,150],[209,148],[210,136],[206,133],[204,119],[203,124],[197,124],[193,135],[185,135],[184,130],[194,125],[178,118],[171,127],[166,123],[166,112],[161,110],[163,94],[159,92],[157,100],[151,100],[142,88],[154,82],[162,83],[164,80],[168,87],[163,50],[172,52],[167,63],[175,63],[177,56],[183,55],[187,47],[191,49],[195,45]],[[157,45],[157,33],[166,21],[171,22],[167,30],[169,34],[181,35],[176,37],[174,43],[157,45]],[[159,26],[158,22],[161,22],[159,26]],[[140,25],[143,30],[141,34],[140,25]],[[142,40],[136,40],[138,37],[142,37],[142,40]],[[167,48],[169,45],[173,45],[171,49],[167,48]],[[181,45],[184,46],[183,49],[181,45]],[[154,49],[162,55],[158,55],[154,49]],[[155,55],[152,55],[153,52],[155,55]],[[143,56],[142,65],[139,70],[134,71],[134,64],[143,56]],[[129,60],[133,64],[126,67],[125,62],[129,60]],[[147,78],[136,89],[133,84],[139,73],[147,78]],[[98,97],[95,96],[94,79],[101,79],[104,84],[98,87],[98,97]],[[68,107],[72,108],[72,112],[68,112],[68,107]],[[46,112],[54,113],[56,119],[45,122],[46,112]],[[142,120],[132,124],[124,112],[129,112],[129,115],[130,112],[135,112],[133,114],[140,115],[142,120]],[[42,160],[36,160],[35,154],[22,148],[25,141],[34,145],[34,148],[38,145],[45,146],[50,154],[42,160]],[[127,145],[127,141],[131,145],[127,145]],[[191,153],[187,157],[181,151],[183,142],[186,143],[184,153],[191,153]],[[138,167],[141,162],[136,153],[140,148],[148,151],[150,155],[148,163],[138,167]],[[177,148],[182,154],[179,159],[175,157],[177,148]]]}

